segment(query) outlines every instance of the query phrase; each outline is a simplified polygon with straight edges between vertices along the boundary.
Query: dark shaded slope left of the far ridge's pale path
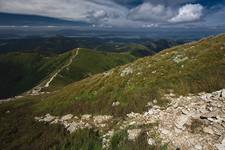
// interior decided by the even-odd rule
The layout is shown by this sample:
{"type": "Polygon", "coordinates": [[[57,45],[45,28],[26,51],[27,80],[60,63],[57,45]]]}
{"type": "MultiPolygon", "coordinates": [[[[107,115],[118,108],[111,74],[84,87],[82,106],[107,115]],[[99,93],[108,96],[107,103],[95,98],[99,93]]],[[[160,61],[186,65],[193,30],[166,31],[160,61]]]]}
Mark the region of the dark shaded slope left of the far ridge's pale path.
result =
{"type": "Polygon", "coordinates": [[[0,55],[0,98],[29,90],[64,64],[69,57],[69,53],[52,57],[20,52],[0,55]]]}

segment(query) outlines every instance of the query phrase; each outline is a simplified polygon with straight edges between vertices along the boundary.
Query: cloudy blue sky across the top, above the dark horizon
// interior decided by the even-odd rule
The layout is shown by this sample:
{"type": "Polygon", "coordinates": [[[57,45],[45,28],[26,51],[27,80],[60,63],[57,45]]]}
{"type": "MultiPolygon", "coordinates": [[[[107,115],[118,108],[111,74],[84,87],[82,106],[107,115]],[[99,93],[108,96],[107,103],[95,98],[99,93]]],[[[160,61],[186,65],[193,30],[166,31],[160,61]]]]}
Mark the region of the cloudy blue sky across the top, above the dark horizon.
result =
{"type": "Polygon", "coordinates": [[[0,12],[100,27],[225,26],[225,0],[0,0],[0,12]]]}

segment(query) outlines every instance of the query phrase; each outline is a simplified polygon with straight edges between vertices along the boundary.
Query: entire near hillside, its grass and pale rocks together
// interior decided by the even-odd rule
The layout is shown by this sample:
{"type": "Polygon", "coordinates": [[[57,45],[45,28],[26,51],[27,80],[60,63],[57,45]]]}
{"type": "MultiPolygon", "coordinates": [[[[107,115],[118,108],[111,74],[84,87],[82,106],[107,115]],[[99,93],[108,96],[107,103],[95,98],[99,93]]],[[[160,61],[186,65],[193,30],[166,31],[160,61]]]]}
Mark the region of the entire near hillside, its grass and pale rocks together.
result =
{"type": "Polygon", "coordinates": [[[224,149],[224,77],[225,35],[167,49],[56,92],[1,104],[0,145],[224,149]]]}

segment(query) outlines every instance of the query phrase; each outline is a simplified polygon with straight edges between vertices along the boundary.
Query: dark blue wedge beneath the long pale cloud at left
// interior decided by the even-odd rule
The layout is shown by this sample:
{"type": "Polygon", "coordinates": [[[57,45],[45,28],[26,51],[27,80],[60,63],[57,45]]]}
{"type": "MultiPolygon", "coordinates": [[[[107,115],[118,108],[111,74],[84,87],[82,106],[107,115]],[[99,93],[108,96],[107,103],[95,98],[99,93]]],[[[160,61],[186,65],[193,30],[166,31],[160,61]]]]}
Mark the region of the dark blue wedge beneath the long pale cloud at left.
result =
{"type": "Polygon", "coordinates": [[[0,26],[88,26],[89,24],[82,21],[68,21],[51,17],[0,13],[0,26]]]}

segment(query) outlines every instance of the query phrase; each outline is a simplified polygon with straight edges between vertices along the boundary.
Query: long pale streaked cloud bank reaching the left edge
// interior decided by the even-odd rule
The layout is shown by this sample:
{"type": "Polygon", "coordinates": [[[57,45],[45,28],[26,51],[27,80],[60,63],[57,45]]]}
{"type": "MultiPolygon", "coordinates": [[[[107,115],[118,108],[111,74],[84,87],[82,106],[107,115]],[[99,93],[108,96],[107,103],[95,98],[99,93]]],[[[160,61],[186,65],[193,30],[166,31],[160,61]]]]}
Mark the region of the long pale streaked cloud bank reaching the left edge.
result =
{"type": "Polygon", "coordinates": [[[125,16],[127,9],[110,0],[0,0],[0,12],[89,21],[125,16]]]}

